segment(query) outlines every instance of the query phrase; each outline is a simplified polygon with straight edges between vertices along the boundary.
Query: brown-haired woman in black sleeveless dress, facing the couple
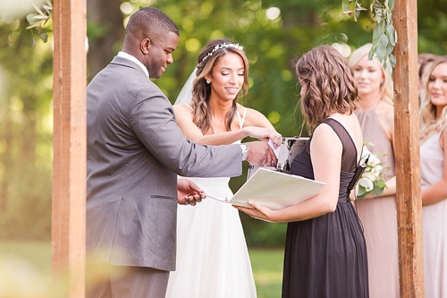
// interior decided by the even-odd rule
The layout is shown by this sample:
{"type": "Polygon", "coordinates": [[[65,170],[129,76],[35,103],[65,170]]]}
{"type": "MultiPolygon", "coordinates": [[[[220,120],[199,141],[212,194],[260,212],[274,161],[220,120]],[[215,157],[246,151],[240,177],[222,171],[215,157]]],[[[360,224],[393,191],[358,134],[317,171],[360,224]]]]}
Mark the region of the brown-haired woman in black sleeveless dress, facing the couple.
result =
{"type": "MultiPolygon", "coordinates": [[[[367,246],[350,201],[363,137],[354,110],[360,99],[348,61],[333,47],[315,47],[294,64],[301,113],[312,131],[291,174],[326,183],[315,196],[284,209],[251,201],[250,217],[288,222],[283,298],[368,297],[367,246]]],[[[274,200],[274,198],[272,198],[274,200]]]]}

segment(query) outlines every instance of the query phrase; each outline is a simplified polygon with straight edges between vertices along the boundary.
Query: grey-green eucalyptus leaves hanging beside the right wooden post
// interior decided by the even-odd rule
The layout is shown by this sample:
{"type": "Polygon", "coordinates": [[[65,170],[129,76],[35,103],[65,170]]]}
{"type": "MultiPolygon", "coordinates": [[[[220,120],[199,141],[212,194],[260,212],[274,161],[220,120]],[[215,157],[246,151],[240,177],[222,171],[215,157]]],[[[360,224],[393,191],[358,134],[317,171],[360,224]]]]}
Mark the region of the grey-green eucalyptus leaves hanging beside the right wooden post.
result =
{"type": "MultiPolygon", "coordinates": [[[[394,68],[396,66],[396,57],[392,55],[392,50],[397,43],[397,33],[392,25],[392,7],[395,0],[373,0],[371,12],[375,19],[375,28],[373,31],[373,47],[369,52],[368,59],[375,56],[382,64],[384,69],[390,69],[388,64],[394,68]]],[[[359,0],[342,0],[342,9],[344,14],[353,15],[354,21],[358,20],[362,11],[367,11],[362,7],[359,0]]]]}

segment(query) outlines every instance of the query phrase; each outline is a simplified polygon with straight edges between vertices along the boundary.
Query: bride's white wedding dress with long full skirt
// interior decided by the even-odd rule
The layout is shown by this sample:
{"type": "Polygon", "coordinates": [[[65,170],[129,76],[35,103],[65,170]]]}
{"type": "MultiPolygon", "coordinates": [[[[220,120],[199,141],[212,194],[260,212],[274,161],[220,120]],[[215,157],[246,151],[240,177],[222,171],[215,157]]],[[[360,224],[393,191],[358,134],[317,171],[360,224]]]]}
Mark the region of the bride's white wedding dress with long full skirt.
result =
{"type": "MultiPolygon", "coordinates": [[[[240,115],[238,114],[238,117],[240,115]]],[[[242,127],[242,120],[240,126],[242,127]]],[[[230,178],[188,178],[216,198],[231,197],[230,178]]],[[[239,211],[207,198],[178,206],[177,268],[167,298],[251,298],[256,287],[239,211]]]]}

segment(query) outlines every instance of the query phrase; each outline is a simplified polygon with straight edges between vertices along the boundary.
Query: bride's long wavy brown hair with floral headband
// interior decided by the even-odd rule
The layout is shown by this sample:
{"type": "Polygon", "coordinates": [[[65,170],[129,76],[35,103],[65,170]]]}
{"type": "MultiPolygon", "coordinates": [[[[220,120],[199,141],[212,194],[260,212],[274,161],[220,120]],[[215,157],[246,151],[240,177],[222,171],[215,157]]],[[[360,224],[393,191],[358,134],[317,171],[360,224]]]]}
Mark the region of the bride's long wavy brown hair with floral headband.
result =
{"type": "MultiPolygon", "coordinates": [[[[194,109],[194,123],[202,132],[206,132],[211,127],[211,113],[209,113],[209,97],[211,95],[211,85],[207,83],[205,76],[212,75],[215,64],[217,64],[223,55],[234,53],[240,55],[244,64],[244,83],[242,85],[242,97],[245,99],[249,89],[249,59],[242,50],[242,47],[219,47],[219,45],[234,45],[234,41],[230,39],[214,39],[205,46],[198,55],[198,65],[196,72],[196,80],[192,85],[192,108],[194,109]],[[210,54],[211,55],[208,55],[210,54]],[[207,58],[204,57],[207,56],[207,58]]],[[[232,120],[237,112],[238,95],[232,101],[232,109],[225,115],[225,126],[231,131],[232,120]]]]}

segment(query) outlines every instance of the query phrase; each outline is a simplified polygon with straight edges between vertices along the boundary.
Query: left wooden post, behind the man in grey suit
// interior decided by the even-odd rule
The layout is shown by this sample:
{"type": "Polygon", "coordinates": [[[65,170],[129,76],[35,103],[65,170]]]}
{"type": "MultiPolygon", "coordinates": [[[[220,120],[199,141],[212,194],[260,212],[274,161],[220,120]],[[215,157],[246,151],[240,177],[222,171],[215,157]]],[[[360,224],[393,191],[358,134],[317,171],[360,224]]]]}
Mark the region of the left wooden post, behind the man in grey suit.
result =
{"type": "Polygon", "coordinates": [[[52,268],[85,297],[86,0],[54,1],[52,268]]]}

